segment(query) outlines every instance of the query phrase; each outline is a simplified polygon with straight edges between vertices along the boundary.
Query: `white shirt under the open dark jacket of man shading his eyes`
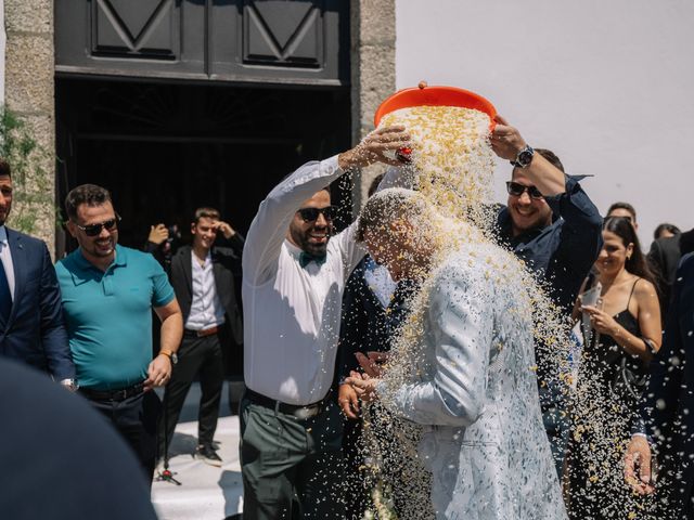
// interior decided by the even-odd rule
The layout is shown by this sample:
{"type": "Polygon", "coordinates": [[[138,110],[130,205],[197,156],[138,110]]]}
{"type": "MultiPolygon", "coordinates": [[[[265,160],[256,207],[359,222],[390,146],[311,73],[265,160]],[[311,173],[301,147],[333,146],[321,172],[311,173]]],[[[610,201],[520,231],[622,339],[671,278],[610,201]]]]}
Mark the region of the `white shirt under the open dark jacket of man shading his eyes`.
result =
{"type": "Polygon", "coordinates": [[[213,272],[213,256],[207,251],[205,263],[191,250],[193,299],[191,312],[185,321],[189,330],[205,330],[224,323],[224,307],[217,295],[215,273],[213,272]]]}

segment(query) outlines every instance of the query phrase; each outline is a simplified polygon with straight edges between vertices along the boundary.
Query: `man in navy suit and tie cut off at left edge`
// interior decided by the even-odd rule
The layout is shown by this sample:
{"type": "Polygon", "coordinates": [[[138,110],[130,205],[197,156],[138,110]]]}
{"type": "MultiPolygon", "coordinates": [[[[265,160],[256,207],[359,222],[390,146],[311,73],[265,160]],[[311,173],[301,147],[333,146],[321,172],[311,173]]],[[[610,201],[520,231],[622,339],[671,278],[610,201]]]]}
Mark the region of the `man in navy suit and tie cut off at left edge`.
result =
{"type": "Polygon", "coordinates": [[[0,354],[75,389],[75,365],[51,257],[42,240],[4,225],[11,207],[11,169],[0,158],[0,354]]]}

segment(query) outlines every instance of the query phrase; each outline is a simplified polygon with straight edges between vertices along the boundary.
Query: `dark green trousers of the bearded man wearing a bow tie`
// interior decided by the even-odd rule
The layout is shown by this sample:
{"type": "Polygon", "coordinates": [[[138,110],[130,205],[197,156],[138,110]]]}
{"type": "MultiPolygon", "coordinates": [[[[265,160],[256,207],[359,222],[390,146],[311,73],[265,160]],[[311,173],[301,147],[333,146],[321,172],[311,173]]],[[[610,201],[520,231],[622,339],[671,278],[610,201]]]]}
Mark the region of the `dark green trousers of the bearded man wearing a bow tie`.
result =
{"type": "Polygon", "coordinates": [[[244,520],[338,520],[343,419],[337,404],[310,419],[241,401],[244,520]]]}

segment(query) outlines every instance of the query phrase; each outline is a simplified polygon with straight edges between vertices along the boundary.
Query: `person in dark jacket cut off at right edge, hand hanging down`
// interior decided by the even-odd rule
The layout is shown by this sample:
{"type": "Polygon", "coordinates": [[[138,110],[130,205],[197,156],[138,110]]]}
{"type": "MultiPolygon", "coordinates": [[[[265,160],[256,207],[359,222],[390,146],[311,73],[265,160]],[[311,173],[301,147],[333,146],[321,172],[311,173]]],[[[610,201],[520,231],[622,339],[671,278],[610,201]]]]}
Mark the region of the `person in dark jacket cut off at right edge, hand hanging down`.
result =
{"type": "Polygon", "coordinates": [[[641,494],[656,491],[670,507],[667,518],[694,518],[694,253],[682,258],[674,276],[663,347],[651,362],[644,392],[643,431],[627,450],[625,477],[641,494]],[[651,450],[658,454],[658,481],[652,479],[651,450]],[[663,482],[669,489],[661,490],[663,482]]]}

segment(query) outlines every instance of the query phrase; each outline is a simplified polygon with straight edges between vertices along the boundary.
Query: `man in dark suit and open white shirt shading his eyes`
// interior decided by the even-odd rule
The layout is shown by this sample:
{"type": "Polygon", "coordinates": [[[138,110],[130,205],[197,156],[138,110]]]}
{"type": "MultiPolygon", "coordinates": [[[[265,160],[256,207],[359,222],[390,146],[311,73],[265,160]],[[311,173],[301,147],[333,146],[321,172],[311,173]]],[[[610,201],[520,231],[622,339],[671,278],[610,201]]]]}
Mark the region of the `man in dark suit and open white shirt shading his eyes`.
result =
{"type": "Polygon", "coordinates": [[[171,285],[181,306],[185,330],[178,363],[166,387],[158,453],[168,460],[165,452],[185,395],[194,377],[200,375],[202,395],[195,457],[221,466],[213,439],[226,373],[223,350],[227,344],[243,341],[234,275],[240,271],[244,237],[221,221],[219,211],[213,208],[195,210],[191,233],[192,246],[181,247],[171,260],[171,285]],[[218,234],[223,235],[230,247],[214,247],[218,234]]]}

